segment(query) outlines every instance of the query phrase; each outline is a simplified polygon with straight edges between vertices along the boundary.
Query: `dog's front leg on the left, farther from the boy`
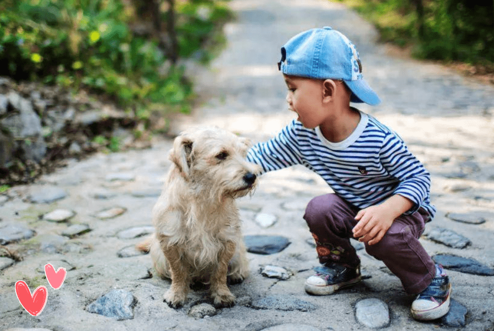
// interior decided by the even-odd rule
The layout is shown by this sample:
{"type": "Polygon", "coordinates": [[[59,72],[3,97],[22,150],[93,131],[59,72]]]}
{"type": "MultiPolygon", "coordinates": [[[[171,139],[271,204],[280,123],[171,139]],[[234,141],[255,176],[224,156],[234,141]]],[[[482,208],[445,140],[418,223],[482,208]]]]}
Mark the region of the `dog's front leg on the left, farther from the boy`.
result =
{"type": "Polygon", "coordinates": [[[171,269],[171,285],[163,298],[170,307],[178,308],[185,303],[187,298],[190,283],[189,271],[181,261],[176,246],[165,247],[163,242],[161,245],[171,269]]]}

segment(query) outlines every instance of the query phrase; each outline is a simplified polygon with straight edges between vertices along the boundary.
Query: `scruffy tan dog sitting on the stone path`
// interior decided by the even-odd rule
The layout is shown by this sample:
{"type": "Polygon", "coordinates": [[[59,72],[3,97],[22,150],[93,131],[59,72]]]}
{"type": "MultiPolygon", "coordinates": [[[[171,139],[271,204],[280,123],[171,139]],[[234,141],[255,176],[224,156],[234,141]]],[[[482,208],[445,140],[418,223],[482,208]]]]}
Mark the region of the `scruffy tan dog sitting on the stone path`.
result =
{"type": "Polygon", "coordinates": [[[153,209],[156,233],[138,246],[171,286],[164,299],[184,304],[192,282],[209,284],[216,306],[232,306],[227,287],[248,273],[235,198],[250,192],[259,166],[246,161],[245,138],[218,128],[183,132],[173,143],[165,187],[153,209]]]}

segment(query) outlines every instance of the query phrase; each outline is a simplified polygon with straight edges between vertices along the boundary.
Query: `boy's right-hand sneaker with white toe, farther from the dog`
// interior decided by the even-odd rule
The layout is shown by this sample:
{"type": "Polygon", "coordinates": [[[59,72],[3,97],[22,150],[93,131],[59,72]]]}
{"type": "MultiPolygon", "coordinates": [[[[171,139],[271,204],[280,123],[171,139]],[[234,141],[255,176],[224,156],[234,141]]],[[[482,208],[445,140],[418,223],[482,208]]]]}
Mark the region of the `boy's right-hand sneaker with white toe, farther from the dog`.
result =
{"type": "Polygon", "coordinates": [[[439,275],[412,302],[412,316],[419,321],[431,321],[450,311],[451,284],[448,276],[439,275]]]}

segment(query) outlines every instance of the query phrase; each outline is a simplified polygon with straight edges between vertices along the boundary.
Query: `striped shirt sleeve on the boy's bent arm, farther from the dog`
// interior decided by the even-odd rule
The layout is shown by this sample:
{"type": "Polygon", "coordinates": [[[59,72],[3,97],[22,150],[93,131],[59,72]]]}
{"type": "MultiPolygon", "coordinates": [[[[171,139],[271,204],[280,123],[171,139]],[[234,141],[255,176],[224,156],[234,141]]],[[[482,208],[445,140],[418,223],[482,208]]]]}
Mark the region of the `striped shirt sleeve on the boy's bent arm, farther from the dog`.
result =
{"type": "Polygon", "coordinates": [[[388,134],[380,151],[381,163],[390,176],[399,180],[393,194],[399,194],[411,200],[413,207],[405,212],[416,212],[424,199],[429,196],[430,173],[409,151],[405,143],[392,133],[388,134]]]}

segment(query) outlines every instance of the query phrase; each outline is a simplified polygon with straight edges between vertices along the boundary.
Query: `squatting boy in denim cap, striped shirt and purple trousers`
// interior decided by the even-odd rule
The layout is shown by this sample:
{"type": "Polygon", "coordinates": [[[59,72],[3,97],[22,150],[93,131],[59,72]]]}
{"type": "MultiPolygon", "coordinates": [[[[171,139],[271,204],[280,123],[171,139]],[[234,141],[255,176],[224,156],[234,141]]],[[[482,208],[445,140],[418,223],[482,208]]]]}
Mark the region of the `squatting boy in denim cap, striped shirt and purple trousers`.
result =
{"type": "Polygon", "coordinates": [[[325,27],[292,37],[281,53],[288,106],[298,118],[252,147],[247,159],[263,172],[303,164],[335,192],[315,197],[305,211],[322,264],[305,291],[327,295],[361,281],[349,239],[354,237],[400,278],[407,293],[418,294],[411,308],[415,319],[446,315],[448,276],[418,241],[435,214],[430,175],[396,133],[350,107],[380,102],[362,78],[355,46],[325,27]]]}

